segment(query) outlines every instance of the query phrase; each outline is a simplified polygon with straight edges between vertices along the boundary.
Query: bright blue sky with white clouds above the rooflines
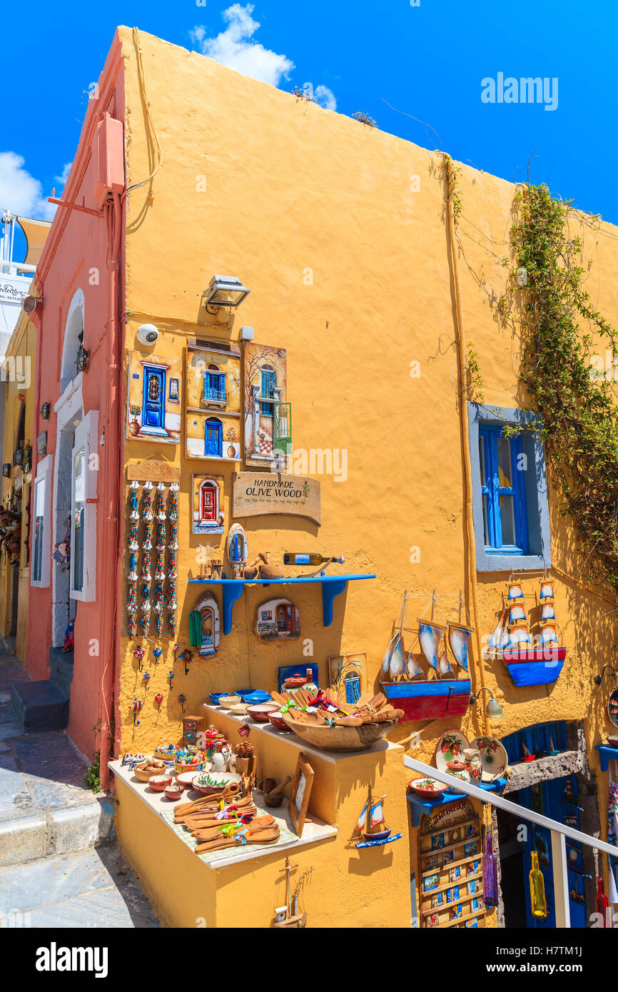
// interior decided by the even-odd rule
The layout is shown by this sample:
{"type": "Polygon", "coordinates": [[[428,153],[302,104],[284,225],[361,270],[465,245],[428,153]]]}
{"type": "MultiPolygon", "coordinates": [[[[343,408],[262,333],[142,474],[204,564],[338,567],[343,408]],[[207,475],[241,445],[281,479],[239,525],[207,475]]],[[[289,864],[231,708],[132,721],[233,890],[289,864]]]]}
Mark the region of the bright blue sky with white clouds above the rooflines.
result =
{"type": "Polygon", "coordinates": [[[47,215],[45,197],[62,190],[78,141],[85,91],[115,26],[126,24],[282,89],[310,83],[322,105],[364,110],[384,131],[508,180],[526,179],[534,154],[533,182],[618,222],[615,0],[413,3],[5,0],[0,207],[47,215]],[[499,73],[547,78],[548,98],[523,102],[505,83],[519,102],[498,102],[499,73]],[[496,102],[481,99],[483,88],[491,95],[484,79],[495,80],[496,102]]]}

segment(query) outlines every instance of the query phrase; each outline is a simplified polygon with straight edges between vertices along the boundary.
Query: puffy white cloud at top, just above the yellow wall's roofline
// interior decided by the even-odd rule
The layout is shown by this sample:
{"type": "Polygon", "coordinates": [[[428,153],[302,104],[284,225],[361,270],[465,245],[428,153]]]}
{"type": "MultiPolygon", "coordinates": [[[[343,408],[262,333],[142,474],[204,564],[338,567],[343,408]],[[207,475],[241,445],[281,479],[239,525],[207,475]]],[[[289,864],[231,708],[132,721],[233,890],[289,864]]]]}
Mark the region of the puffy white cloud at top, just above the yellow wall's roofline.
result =
{"type": "Polygon", "coordinates": [[[244,7],[239,3],[232,4],[223,11],[223,20],[227,21],[228,27],[216,38],[206,38],[203,25],[193,28],[189,36],[202,55],[228,68],[235,68],[252,79],[278,86],[282,76],[288,78],[295,67],[294,62],[252,40],[260,27],[259,22],[251,17],[253,9],[251,3],[244,7]]]}

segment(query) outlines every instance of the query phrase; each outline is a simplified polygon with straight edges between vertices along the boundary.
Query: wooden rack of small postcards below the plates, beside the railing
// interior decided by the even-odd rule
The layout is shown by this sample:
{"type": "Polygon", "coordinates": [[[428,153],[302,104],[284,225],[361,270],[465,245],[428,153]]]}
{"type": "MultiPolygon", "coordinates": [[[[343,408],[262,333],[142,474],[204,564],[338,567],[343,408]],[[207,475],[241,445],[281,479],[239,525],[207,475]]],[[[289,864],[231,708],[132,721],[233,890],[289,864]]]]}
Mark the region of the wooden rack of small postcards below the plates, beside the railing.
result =
{"type": "Polygon", "coordinates": [[[421,927],[484,927],[480,818],[469,800],[438,806],[421,820],[421,927]]]}

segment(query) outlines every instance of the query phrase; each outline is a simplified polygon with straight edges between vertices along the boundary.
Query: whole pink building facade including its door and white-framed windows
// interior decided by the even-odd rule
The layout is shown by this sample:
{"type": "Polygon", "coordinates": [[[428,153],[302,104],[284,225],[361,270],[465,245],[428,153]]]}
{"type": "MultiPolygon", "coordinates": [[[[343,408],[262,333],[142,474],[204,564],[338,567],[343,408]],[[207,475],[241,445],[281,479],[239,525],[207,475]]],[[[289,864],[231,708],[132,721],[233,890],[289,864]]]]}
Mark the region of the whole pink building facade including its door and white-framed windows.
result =
{"type": "MultiPolygon", "coordinates": [[[[62,648],[74,621],[66,730],[89,756],[99,742],[104,756],[113,737],[119,635],[125,106],[117,36],[98,97],[88,106],[62,193],[62,202],[74,205],[59,206],[36,278],[43,309],[35,314],[37,445],[26,658],[32,677],[47,680],[50,649],[62,648]],[[78,362],[87,367],[79,371],[78,362]],[[54,557],[67,532],[69,563],[54,557]]],[[[105,779],[105,761],[101,774],[105,779]]]]}

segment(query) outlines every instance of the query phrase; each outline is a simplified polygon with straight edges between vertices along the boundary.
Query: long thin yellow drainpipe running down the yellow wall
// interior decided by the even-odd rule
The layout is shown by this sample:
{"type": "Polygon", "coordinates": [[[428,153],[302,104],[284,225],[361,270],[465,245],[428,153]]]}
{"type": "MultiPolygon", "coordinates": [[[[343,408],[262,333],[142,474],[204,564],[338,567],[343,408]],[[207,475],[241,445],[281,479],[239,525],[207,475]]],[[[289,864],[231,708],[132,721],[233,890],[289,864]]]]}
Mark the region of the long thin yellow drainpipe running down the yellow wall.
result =
{"type": "MultiPolygon", "coordinates": [[[[455,177],[452,167],[452,159],[449,155],[443,156],[443,161],[446,166],[446,179],[447,179],[447,191],[446,191],[446,212],[448,214],[448,254],[450,258],[450,267],[452,272],[453,284],[454,284],[454,298],[455,298],[455,334],[457,338],[457,353],[458,353],[458,363],[459,363],[459,382],[461,383],[461,392],[459,395],[459,402],[461,405],[461,447],[463,449],[463,479],[465,484],[465,529],[466,538],[468,546],[467,554],[467,571],[468,571],[468,582],[470,586],[470,605],[472,607],[472,623],[474,624],[476,633],[476,654],[477,654],[477,671],[476,677],[479,682],[479,687],[476,690],[476,695],[479,694],[481,688],[485,687],[485,674],[483,670],[483,649],[481,645],[481,633],[479,629],[478,622],[478,584],[476,580],[476,541],[474,539],[474,520],[472,516],[472,464],[470,460],[470,434],[469,434],[469,418],[468,418],[468,405],[465,398],[465,388],[464,388],[464,375],[465,375],[465,330],[463,326],[463,312],[461,308],[461,287],[459,285],[459,271],[457,269],[457,255],[455,249],[455,216],[454,216],[454,204],[453,204],[453,189],[455,183],[455,177]]],[[[489,736],[489,717],[487,716],[485,709],[481,706],[480,714],[481,724],[483,727],[483,732],[489,736]]]]}

